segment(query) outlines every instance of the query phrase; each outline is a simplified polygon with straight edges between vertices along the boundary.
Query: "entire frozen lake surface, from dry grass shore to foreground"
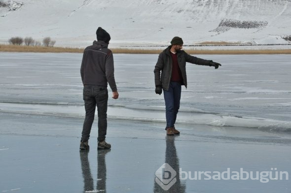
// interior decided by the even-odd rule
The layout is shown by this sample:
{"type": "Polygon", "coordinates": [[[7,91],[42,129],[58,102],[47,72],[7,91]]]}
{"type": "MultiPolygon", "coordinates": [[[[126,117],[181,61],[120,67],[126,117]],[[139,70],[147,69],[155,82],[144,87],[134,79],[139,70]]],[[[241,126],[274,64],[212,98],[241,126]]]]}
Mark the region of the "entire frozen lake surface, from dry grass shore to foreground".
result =
{"type": "Polygon", "coordinates": [[[114,55],[120,98],[109,97],[112,150],[97,151],[95,121],[85,153],[82,54],[0,53],[0,192],[161,193],[156,171],[168,163],[192,178],[228,168],[272,176],[261,183],[183,173],[170,192],[290,193],[289,180],[274,179],[275,170],[291,171],[291,57],[198,57],[222,66],[187,65],[182,134],[166,136],[164,99],[154,93],[157,55],[114,55]]]}

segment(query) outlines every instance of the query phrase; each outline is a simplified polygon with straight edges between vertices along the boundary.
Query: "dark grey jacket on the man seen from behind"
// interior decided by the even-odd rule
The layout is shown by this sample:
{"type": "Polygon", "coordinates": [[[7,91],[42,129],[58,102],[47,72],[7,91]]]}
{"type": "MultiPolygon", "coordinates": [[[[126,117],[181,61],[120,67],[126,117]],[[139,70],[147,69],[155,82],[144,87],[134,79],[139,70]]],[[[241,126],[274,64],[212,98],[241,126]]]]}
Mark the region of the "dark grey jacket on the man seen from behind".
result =
{"type": "Polygon", "coordinates": [[[113,56],[107,43],[94,41],[92,46],[85,48],[81,64],[81,78],[83,85],[107,87],[108,82],[112,92],[117,91],[113,56]]]}

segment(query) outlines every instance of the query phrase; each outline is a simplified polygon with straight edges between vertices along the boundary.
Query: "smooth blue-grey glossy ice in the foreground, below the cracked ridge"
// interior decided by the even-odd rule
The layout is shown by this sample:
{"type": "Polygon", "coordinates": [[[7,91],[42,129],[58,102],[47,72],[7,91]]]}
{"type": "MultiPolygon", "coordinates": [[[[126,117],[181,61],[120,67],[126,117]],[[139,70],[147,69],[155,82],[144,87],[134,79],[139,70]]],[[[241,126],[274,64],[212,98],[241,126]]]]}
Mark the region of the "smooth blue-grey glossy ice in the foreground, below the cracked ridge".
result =
{"type": "MultiPolygon", "coordinates": [[[[166,137],[163,123],[109,120],[107,140],[112,149],[103,153],[97,151],[97,123],[89,152],[78,150],[83,119],[0,113],[0,123],[0,143],[10,148],[0,151],[0,192],[20,188],[23,193],[160,193],[155,172],[165,162],[175,170],[191,171],[192,177],[195,171],[227,168],[291,171],[291,135],[286,132],[179,124],[181,135],[166,137]]],[[[268,183],[177,179],[175,186],[171,189],[175,193],[291,189],[290,178],[268,183]]]]}

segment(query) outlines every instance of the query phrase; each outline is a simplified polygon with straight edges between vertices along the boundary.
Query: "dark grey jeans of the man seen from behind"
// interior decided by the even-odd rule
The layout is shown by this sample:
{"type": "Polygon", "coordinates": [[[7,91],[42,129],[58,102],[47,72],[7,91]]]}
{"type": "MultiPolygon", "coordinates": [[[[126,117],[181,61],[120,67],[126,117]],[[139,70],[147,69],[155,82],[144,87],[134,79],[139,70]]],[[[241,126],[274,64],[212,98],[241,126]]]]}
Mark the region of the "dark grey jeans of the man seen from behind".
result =
{"type": "Polygon", "coordinates": [[[107,102],[108,90],[101,86],[84,86],[83,99],[85,102],[86,116],[83,124],[82,141],[87,141],[95,116],[98,111],[98,141],[103,141],[107,131],[107,102]]]}

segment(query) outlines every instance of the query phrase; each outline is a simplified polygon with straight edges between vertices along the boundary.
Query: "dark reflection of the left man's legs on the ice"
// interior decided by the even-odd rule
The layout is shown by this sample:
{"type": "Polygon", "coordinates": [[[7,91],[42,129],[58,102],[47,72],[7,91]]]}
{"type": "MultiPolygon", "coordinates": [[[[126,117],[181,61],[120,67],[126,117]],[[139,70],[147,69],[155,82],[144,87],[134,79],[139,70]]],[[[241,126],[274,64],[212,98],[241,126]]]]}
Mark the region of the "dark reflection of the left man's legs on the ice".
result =
{"type": "Polygon", "coordinates": [[[86,191],[102,191],[106,193],[106,162],[105,155],[110,152],[110,149],[100,150],[97,152],[97,186],[94,189],[94,180],[92,178],[90,163],[88,160],[89,151],[80,151],[80,160],[82,175],[84,179],[84,193],[86,191]]]}

